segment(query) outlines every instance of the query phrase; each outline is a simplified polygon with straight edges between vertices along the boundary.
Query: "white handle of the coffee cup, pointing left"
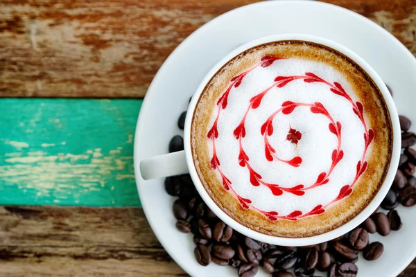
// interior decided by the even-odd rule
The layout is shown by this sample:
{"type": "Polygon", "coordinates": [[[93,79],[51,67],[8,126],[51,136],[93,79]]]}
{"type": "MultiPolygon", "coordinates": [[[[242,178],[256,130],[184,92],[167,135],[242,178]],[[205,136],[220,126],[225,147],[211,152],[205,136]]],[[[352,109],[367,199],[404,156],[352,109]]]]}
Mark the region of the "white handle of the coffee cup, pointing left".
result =
{"type": "Polygon", "coordinates": [[[145,180],[189,172],[184,150],[140,161],[141,177],[145,180]]]}

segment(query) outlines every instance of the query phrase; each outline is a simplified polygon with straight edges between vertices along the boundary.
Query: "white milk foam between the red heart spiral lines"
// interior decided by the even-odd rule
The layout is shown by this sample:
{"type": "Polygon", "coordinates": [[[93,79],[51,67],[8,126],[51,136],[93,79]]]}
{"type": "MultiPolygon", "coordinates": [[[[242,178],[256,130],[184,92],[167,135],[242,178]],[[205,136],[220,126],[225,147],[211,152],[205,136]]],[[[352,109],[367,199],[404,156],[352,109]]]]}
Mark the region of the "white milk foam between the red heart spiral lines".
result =
{"type": "MultiPolygon", "coordinates": [[[[261,105],[257,109],[250,109],[245,120],[246,135],[242,141],[250,157],[250,166],[261,175],[261,180],[286,188],[299,184],[311,186],[321,172],[329,171],[331,154],[337,148],[337,137],[329,131],[329,119],[323,114],[313,114],[310,107],[296,107],[288,115],[277,114],[272,121],[274,132],[268,137],[277,157],[290,160],[300,156],[303,160],[301,165],[295,168],[281,161],[266,159],[261,125],[285,101],[321,102],[333,120],[342,124],[341,150],[344,157],[331,173],[328,184],[306,190],[303,196],[287,192],[275,196],[266,186],[250,184],[248,168],[239,165],[239,141],[233,134],[234,129],[241,123],[250,105],[250,98],[270,87],[277,76],[305,75],[306,72],[314,73],[331,84],[340,83],[354,102],[358,100],[345,76],[328,64],[295,58],[277,60],[266,68],[257,67],[245,76],[239,87],[232,89],[227,108],[221,109],[218,120],[219,136],[215,143],[220,170],[232,181],[232,187],[241,197],[252,200],[252,205],[263,211],[277,211],[279,215],[287,215],[295,210],[307,213],[315,206],[324,206],[335,199],[340,188],[354,180],[356,164],[364,151],[364,127],[354,114],[351,103],[331,92],[330,87],[322,82],[293,80],[285,87],[270,89],[261,100],[261,105]],[[290,127],[302,133],[297,146],[286,140],[290,127]]],[[[209,126],[212,126],[215,117],[216,112],[211,115],[209,126]]],[[[209,145],[212,154],[211,143],[209,145]]]]}

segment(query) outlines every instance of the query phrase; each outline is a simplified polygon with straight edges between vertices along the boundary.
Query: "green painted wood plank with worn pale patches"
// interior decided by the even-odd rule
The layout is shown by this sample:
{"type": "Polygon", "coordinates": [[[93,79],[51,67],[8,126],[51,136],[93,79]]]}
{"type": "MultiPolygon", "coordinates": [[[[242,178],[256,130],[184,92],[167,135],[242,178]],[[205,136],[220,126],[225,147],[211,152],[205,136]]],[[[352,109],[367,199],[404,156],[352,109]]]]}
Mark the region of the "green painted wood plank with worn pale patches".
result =
{"type": "Polygon", "coordinates": [[[142,100],[0,99],[0,204],[140,206],[142,100]]]}

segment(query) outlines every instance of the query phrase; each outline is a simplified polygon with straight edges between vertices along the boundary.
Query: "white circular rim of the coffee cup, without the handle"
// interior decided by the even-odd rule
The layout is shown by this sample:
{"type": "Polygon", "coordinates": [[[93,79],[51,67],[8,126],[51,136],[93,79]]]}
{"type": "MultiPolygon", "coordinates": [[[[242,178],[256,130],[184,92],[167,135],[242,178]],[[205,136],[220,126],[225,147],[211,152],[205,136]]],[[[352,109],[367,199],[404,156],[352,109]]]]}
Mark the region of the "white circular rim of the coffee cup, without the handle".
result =
{"type": "Polygon", "coordinates": [[[367,217],[370,217],[370,215],[376,210],[376,208],[379,207],[385,195],[388,193],[388,190],[390,189],[392,181],[395,178],[397,168],[399,166],[399,157],[400,157],[400,152],[401,152],[400,151],[401,150],[401,131],[400,131],[400,124],[399,124],[399,116],[397,114],[395,103],[392,100],[392,96],[390,95],[388,88],[385,86],[385,83],[383,82],[383,80],[381,80],[381,77],[376,73],[376,71],[374,71],[374,69],[372,69],[370,64],[367,64],[367,62],[365,62],[365,60],[363,60],[356,53],[349,50],[345,46],[342,46],[336,42],[331,41],[330,39],[325,39],[323,37],[318,37],[318,36],[313,36],[313,35],[304,35],[304,34],[270,35],[267,37],[254,39],[251,42],[248,42],[246,44],[243,44],[235,48],[233,51],[225,55],[219,62],[217,62],[209,70],[207,75],[205,75],[205,78],[202,79],[202,82],[200,82],[198,89],[196,89],[196,92],[193,94],[191,102],[189,103],[187,114],[188,116],[185,120],[185,125],[184,125],[184,150],[185,150],[185,154],[187,157],[187,166],[189,168],[189,174],[191,175],[193,183],[195,184],[196,189],[198,190],[198,193],[202,197],[202,200],[205,202],[205,204],[207,204],[207,206],[211,209],[211,211],[213,211],[213,213],[220,218],[220,220],[225,222],[225,224],[231,226],[232,229],[238,231],[239,233],[242,233],[243,235],[253,238],[254,240],[259,240],[261,242],[277,244],[281,246],[298,247],[298,246],[326,242],[329,240],[333,240],[334,238],[338,238],[340,235],[344,235],[345,233],[348,233],[352,229],[356,228],[356,226],[361,224],[364,220],[366,220],[367,217]],[[361,211],[361,213],[356,215],[356,217],[352,218],[352,220],[349,220],[348,222],[339,226],[338,228],[333,229],[331,231],[327,231],[319,235],[313,235],[313,236],[304,237],[304,238],[283,238],[283,237],[278,237],[278,236],[273,236],[273,235],[267,235],[264,233],[259,233],[246,226],[243,226],[242,224],[239,224],[239,222],[236,222],[234,219],[232,219],[232,217],[229,217],[229,215],[227,215],[223,210],[221,210],[215,204],[214,200],[211,199],[211,197],[206,192],[204,186],[202,186],[202,183],[196,172],[196,167],[193,163],[192,150],[191,150],[191,123],[193,119],[193,114],[195,112],[196,104],[198,103],[200,95],[202,91],[205,89],[206,84],[209,82],[209,80],[211,80],[212,76],[214,76],[216,72],[229,60],[232,60],[232,58],[236,57],[240,53],[243,53],[249,48],[252,48],[254,46],[258,46],[261,44],[284,41],[284,40],[300,40],[300,41],[305,41],[305,42],[313,42],[317,44],[322,44],[324,46],[328,46],[329,48],[333,48],[334,50],[339,51],[340,53],[343,53],[344,55],[352,59],[354,62],[356,62],[356,64],[361,66],[361,68],[368,75],[370,75],[370,78],[372,78],[376,86],[381,91],[381,94],[388,107],[388,111],[390,113],[390,120],[392,123],[393,148],[392,148],[392,156],[390,159],[388,173],[385,176],[385,179],[383,181],[383,184],[381,185],[381,188],[376,193],[376,195],[374,196],[370,204],[365,206],[365,208],[363,208],[363,211],[361,211]]]}

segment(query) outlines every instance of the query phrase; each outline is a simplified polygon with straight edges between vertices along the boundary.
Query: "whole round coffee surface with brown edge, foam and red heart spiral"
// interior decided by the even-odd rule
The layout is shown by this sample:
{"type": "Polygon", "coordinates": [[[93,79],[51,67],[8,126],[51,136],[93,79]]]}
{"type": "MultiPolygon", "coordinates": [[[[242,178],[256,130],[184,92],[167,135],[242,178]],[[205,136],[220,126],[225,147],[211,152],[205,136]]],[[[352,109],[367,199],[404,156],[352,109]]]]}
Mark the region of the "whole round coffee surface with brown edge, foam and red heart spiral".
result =
{"type": "Polygon", "coordinates": [[[248,228],[287,238],[352,220],[383,184],[392,125],[381,91],[327,46],[250,48],[208,82],[191,125],[196,171],[248,228]]]}

